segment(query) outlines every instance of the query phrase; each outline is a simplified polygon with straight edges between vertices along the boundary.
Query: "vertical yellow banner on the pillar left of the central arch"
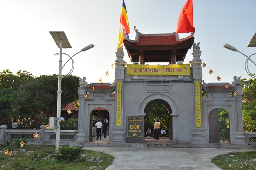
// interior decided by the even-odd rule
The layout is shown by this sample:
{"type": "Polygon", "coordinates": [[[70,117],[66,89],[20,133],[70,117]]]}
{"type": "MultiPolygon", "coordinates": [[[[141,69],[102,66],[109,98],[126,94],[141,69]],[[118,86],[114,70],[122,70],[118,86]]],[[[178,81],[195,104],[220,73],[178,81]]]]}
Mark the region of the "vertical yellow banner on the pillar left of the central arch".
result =
{"type": "Polygon", "coordinates": [[[116,82],[116,126],[121,126],[122,82],[116,82]]]}

